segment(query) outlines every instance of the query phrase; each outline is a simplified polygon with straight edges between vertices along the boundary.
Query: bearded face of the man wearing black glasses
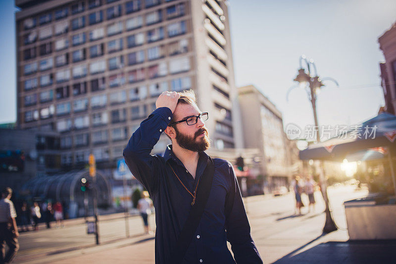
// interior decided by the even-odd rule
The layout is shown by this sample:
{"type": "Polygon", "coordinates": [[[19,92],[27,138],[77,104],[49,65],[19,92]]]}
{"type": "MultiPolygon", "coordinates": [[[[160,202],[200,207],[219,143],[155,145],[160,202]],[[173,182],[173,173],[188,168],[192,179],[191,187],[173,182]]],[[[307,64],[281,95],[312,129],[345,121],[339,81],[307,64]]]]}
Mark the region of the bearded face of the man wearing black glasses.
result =
{"type": "MultiPolygon", "coordinates": [[[[197,116],[201,113],[197,105],[178,104],[174,111],[175,120],[180,121],[190,116],[197,116]]],[[[173,126],[175,128],[176,142],[183,149],[200,152],[209,149],[210,142],[208,131],[200,118],[195,125],[188,125],[182,122],[173,126]]]]}

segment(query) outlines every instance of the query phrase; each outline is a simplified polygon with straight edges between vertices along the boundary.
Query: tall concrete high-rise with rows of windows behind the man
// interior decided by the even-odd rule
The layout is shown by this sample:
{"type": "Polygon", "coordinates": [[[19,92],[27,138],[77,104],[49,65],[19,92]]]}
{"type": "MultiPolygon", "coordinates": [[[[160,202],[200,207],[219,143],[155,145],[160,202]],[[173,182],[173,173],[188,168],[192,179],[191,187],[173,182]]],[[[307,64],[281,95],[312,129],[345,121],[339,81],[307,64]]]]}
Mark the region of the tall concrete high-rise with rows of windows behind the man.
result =
{"type": "MultiPolygon", "coordinates": [[[[60,135],[61,164],[115,166],[163,91],[192,88],[213,151],[242,148],[227,3],[15,0],[17,124],[60,135]],[[104,164],[104,165],[103,165],[104,164]]],[[[169,141],[162,135],[153,153],[169,141]]]]}

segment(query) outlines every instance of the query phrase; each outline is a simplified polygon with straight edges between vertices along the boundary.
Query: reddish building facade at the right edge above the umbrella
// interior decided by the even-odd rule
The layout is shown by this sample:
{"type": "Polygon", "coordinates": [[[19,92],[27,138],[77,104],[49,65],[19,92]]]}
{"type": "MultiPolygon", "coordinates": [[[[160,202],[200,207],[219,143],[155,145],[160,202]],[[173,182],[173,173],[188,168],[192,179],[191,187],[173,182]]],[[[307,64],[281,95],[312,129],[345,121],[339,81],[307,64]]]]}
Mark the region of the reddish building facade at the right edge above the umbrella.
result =
{"type": "Polygon", "coordinates": [[[396,114],[396,24],[378,38],[385,62],[380,63],[385,111],[396,114]]]}

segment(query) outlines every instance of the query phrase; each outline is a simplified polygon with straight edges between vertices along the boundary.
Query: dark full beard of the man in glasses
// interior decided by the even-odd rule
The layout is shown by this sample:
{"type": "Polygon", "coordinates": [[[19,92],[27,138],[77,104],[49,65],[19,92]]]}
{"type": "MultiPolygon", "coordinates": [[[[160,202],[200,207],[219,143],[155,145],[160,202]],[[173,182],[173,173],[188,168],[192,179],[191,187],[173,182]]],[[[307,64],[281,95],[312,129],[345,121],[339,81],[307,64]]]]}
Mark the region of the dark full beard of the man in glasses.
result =
{"type": "Polygon", "coordinates": [[[175,127],[175,131],[176,131],[176,142],[183,149],[194,152],[201,152],[209,149],[210,147],[208,132],[206,128],[203,127],[199,128],[198,131],[194,134],[194,136],[185,135],[179,132],[179,130],[176,127],[175,127]],[[202,133],[205,133],[205,135],[202,138],[198,139],[198,136],[202,133]]]}

